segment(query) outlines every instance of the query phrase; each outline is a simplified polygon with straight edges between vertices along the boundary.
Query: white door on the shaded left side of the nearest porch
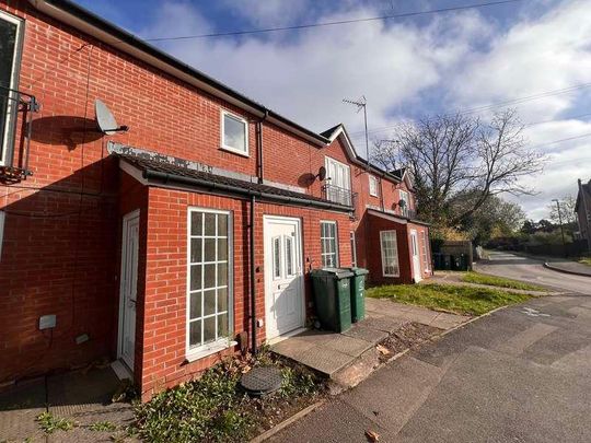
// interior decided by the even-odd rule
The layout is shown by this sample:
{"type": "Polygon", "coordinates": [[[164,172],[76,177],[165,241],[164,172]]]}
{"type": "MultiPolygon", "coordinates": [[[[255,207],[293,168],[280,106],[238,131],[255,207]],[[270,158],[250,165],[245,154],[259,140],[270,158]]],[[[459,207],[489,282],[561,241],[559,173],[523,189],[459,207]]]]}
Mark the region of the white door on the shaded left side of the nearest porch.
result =
{"type": "Polygon", "coordinates": [[[118,358],[134,371],[136,295],[138,289],[139,210],[124,217],[119,291],[118,358]]]}

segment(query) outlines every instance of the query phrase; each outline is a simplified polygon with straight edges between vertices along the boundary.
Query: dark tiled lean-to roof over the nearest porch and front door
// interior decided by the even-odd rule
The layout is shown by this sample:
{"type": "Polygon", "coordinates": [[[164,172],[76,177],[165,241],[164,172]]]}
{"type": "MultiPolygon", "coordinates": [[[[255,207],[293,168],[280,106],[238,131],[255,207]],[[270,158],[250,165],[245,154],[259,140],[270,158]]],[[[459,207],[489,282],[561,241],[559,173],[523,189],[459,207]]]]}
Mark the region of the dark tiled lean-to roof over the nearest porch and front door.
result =
{"type": "Polygon", "coordinates": [[[170,161],[165,161],[165,156],[158,154],[154,154],[152,158],[120,153],[114,155],[141,171],[143,177],[149,180],[178,183],[184,186],[194,186],[199,189],[218,190],[229,194],[254,195],[265,200],[281,201],[297,206],[312,206],[344,212],[352,211],[351,207],[334,203],[309,194],[197,171],[187,167],[186,164],[189,164],[189,162],[181,159],[175,159],[176,163],[171,163],[170,161]]]}

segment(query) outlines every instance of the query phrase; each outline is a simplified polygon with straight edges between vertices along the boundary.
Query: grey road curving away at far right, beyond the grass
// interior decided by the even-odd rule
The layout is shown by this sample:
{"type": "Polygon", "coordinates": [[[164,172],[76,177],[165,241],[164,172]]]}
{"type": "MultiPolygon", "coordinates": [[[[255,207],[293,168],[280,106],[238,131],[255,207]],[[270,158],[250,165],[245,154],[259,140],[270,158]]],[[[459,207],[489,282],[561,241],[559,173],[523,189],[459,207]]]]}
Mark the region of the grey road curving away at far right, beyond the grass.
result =
{"type": "Polygon", "coordinates": [[[544,284],[560,291],[591,295],[591,278],[566,275],[544,268],[543,261],[510,253],[490,253],[490,260],[477,266],[477,270],[500,277],[544,284]]]}

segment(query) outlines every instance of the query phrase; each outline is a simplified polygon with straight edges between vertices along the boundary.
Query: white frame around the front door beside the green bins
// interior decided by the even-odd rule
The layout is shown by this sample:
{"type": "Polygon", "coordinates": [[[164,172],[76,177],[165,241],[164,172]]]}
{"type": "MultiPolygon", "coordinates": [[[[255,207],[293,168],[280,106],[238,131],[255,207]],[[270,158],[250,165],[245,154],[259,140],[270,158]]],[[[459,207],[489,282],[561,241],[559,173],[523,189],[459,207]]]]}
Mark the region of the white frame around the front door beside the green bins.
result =
{"type": "Polygon", "coordinates": [[[302,220],[297,217],[282,217],[282,215],[263,215],[263,258],[264,258],[264,300],[265,300],[265,338],[266,341],[269,340],[276,340],[278,338],[281,338],[283,336],[289,336],[294,330],[299,330],[305,326],[305,287],[304,287],[304,264],[303,264],[303,235],[302,235],[302,220]],[[268,232],[268,223],[273,222],[296,222],[296,235],[298,236],[296,241],[296,245],[298,246],[297,257],[296,261],[298,266],[300,267],[299,272],[299,289],[301,294],[301,322],[300,326],[296,327],[294,329],[287,331],[285,334],[279,334],[273,338],[269,338],[269,303],[267,303],[267,278],[270,277],[268,272],[273,270],[271,266],[271,257],[267,254],[267,232],[268,232]]]}

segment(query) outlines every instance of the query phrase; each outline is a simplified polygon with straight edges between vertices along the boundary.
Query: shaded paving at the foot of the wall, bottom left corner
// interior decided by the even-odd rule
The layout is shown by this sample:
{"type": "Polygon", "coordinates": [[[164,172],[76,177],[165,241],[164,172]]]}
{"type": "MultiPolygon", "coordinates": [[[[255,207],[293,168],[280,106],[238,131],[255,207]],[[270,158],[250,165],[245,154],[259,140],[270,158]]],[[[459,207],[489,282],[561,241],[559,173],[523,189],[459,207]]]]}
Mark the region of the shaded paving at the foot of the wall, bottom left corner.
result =
{"type": "Polygon", "coordinates": [[[48,375],[0,393],[0,442],[111,442],[125,440],[123,428],[134,417],[128,403],[112,403],[119,378],[108,368],[48,375]],[[35,420],[45,411],[77,423],[69,431],[45,434],[35,420]],[[93,431],[91,424],[115,424],[115,431],[93,431]]]}

